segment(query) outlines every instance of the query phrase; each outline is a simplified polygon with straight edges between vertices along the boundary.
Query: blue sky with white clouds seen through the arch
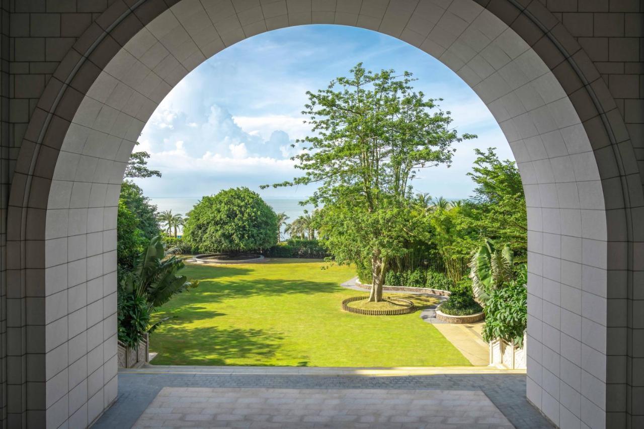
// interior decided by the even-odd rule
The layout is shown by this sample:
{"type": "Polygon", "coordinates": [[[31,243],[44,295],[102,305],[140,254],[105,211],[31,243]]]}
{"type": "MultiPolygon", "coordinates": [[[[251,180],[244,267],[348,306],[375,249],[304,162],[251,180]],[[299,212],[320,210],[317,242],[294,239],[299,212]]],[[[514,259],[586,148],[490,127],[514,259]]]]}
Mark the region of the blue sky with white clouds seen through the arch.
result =
{"type": "Polygon", "coordinates": [[[348,75],[357,62],[370,70],[407,70],[415,88],[442,98],[459,133],[478,138],[457,144],[450,168],[423,169],[419,192],[466,198],[473,188],[466,173],[474,148],[497,148],[513,159],[497,122],[478,96],[430,55],[381,33],[335,25],[309,25],[263,33],[234,44],[189,73],[147,122],[137,150],[151,154],[149,166],[162,178],[137,180],[146,195],[200,198],[233,186],[248,186],[265,198],[301,198],[311,189],[260,191],[260,184],[298,175],[290,143],[308,134],[301,110],[305,92],[348,75]]]}

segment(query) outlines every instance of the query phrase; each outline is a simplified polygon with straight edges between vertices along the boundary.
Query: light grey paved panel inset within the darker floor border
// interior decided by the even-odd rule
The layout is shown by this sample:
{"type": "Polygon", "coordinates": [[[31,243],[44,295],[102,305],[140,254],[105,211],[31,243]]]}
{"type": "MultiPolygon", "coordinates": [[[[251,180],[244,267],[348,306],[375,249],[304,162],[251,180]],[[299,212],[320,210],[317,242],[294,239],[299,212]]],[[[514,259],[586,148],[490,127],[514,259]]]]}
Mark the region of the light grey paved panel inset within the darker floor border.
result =
{"type": "Polygon", "coordinates": [[[144,428],[513,428],[480,390],[165,387],[144,428]]]}

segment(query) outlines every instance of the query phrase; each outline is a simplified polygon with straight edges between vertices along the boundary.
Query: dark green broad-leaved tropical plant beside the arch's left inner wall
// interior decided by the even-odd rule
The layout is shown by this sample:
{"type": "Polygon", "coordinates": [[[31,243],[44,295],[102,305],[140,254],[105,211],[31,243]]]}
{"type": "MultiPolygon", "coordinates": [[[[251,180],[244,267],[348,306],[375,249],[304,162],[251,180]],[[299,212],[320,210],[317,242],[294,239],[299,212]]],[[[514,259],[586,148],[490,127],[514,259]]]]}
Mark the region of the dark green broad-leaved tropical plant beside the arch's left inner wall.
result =
{"type": "Polygon", "coordinates": [[[166,258],[162,238],[154,237],[139,255],[133,269],[118,284],[118,339],[137,348],[145,334],[151,334],[164,321],[151,316],[175,294],[198,286],[186,276],[177,276],[184,263],[175,256],[166,258]]]}

